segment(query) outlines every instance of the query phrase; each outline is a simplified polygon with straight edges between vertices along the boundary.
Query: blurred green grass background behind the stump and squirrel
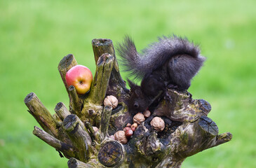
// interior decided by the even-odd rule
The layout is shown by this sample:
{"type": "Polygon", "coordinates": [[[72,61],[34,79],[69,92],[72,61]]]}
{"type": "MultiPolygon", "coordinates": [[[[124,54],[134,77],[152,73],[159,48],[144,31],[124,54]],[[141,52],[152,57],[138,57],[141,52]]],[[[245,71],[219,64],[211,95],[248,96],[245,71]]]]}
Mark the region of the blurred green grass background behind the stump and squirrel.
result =
{"type": "Polygon", "coordinates": [[[0,0],[0,167],[67,167],[32,134],[39,124],[23,99],[35,92],[52,113],[58,102],[67,105],[60,59],[72,53],[94,74],[91,40],[116,45],[125,34],[138,50],[157,36],[187,36],[207,57],[189,92],[210,102],[209,117],[233,139],[182,167],[256,167],[255,7],[255,0],[0,0]]]}

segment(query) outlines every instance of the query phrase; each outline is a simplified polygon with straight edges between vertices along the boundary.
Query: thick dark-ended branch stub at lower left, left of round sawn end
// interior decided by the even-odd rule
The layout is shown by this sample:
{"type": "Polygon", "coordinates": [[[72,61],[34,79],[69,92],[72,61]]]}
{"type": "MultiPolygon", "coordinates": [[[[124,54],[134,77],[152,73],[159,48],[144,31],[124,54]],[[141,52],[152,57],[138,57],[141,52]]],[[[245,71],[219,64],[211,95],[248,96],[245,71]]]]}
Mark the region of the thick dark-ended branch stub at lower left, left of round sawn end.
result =
{"type": "Polygon", "coordinates": [[[81,125],[81,121],[79,120],[80,119],[76,115],[69,115],[63,121],[63,127],[72,143],[79,151],[79,160],[87,162],[90,158],[92,141],[88,132],[84,130],[84,126],[81,125]]]}

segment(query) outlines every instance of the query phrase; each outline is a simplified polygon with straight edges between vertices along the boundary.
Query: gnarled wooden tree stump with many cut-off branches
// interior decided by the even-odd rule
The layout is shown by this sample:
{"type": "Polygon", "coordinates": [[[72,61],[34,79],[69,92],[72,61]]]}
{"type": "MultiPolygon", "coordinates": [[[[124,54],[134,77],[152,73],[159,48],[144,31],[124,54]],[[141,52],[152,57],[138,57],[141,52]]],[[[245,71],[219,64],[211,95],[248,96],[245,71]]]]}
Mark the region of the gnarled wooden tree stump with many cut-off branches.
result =
{"type": "Polygon", "coordinates": [[[169,89],[171,102],[163,99],[127,144],[115,141],[112,135],[133,123],[127,106],[130,91],[121,78],[112,41],[93,39],[92,45],[97,69],[87,94],[76,94],[66,83],[65,74],[77,64],[73,55],[65,56],[58,66],[69,110],[60,102],[52,116],[36,94],[25,97],[29,113],[43,129],[34,127],[33,134],[68,158],[68,167],[181,167],[187,157],[231,140],[231,133],[219,134],[207,117],[208,102],[192,99],[187,91],[169,89]],[[107,95],[119,100],[116,109],[103,105],[107,95]],[[155,116],[164,120],[161,132],[150,125],[155,116]]]}

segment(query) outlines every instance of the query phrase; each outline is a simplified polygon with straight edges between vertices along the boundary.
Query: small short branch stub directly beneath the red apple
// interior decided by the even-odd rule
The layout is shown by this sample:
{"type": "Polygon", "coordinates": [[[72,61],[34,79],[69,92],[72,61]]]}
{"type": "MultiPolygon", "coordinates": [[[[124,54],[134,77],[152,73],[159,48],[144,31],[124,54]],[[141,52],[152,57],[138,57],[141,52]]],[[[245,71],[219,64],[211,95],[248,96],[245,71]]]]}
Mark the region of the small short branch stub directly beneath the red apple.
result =
{"type": "Polygon", "coordinates": [[[72,113],[78,115],[81,112],[81,106],[83,105],[82,99],[79,99],[78,94],[76,93],[76,88],[74,85],[69,86],[69,95],[70,98],[72,99],[70,102],[70,110],[72,113]]]}

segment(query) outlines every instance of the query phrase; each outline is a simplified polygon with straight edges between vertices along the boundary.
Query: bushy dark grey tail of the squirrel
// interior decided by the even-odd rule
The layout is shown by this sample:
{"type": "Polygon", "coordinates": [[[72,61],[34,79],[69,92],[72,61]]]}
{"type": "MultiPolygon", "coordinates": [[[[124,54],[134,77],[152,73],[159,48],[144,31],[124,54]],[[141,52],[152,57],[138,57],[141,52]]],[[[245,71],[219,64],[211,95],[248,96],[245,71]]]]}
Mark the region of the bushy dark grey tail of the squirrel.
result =
{"type": "Polygon", "coordinates": [[[198,45],[190,43],[187,38],[177,36],[160,37],[158,42],[151,43],[148,48],[142,50],[141,54],[137,52],[133,40],[126,36],[123,43],[119,44],[117,51],[122,58],[121,65],[125,67],[125,71],[130,72],[130,76],[135,78],[143,78],[163,66],[175,55],[200,57],[198,45]]]}

